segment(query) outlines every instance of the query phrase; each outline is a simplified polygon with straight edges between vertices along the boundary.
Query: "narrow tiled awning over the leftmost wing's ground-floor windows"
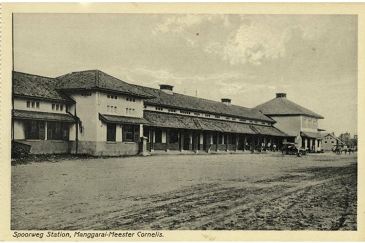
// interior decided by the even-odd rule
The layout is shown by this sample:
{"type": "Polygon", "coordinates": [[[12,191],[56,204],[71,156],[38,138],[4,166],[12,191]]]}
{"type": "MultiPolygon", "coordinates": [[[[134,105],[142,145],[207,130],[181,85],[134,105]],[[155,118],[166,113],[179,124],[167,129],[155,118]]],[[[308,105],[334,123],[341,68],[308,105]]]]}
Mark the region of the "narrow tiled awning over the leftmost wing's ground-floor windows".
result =
{"type": "Polygon", "coordinates": [[[64,121],[75,122],[77,119],[68,113],[50,113],[31,110],[14,110],[13,117],[26,120],[43,120],[43,121],[64,121]]]}

